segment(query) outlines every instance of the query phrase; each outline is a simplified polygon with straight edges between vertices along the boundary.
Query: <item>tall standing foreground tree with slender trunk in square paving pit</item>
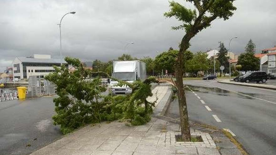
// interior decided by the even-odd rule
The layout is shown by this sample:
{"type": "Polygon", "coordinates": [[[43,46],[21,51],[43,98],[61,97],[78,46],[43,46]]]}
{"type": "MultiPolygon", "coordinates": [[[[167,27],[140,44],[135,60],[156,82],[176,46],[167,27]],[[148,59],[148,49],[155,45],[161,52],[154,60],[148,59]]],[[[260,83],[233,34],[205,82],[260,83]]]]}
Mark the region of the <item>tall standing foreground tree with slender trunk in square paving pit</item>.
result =
{"type": "Polygon", "coordinates": [[[199,31],[211,25],[216,18],[229,19],[233,15],[236,7],[233,6],[234,0],[186,0],[195,6],[195,10],[171,1],[170,11],[164,13],[165,17],[175,17],[183,24],[173,27],[174,30],[185,29],[186,34],[179,46],[178,58],[175,63],[176,81],[178,89],[178,102],[180,113],[181,135],[184,141],[191,140],[190,126],[188,122],[187,103],[183,86],[183,52],[190,47],[190,40],[199,31]]]}

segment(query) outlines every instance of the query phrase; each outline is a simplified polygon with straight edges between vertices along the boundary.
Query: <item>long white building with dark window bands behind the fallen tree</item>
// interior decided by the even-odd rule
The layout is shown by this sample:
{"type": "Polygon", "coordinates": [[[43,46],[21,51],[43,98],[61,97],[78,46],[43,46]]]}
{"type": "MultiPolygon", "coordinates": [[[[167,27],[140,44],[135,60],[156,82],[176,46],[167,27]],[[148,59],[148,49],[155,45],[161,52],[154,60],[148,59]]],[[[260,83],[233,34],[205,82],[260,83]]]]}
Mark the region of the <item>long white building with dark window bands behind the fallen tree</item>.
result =
{"type": "MultiPolygon", "coordinates": [[[[66,64],[62,60],[62,64],[66,64]]],[[[54,71],[53,66],[60,66],[61,59],[51,58],[51,55],[34,54],[31,57],[16,57],[13,60],[13,78],[29,79],[29,76],[37,75],[44,78],[54,71]]]]}

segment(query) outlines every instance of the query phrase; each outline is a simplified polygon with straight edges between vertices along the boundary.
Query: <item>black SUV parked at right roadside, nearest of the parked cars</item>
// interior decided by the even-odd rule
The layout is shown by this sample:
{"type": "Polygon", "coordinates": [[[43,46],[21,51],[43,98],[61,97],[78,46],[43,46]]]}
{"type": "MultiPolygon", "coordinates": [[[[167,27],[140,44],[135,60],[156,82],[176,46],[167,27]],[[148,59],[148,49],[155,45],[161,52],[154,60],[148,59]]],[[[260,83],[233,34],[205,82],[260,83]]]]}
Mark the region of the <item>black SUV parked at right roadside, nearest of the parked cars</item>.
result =
{"type": "Polygon", "coordinates": [[[256,71],[252,73],[245,74],[241,77],[241,82],[257,82],[262,81],[265,83],[267,81],[267,74],[264,71],[256,71]]]}

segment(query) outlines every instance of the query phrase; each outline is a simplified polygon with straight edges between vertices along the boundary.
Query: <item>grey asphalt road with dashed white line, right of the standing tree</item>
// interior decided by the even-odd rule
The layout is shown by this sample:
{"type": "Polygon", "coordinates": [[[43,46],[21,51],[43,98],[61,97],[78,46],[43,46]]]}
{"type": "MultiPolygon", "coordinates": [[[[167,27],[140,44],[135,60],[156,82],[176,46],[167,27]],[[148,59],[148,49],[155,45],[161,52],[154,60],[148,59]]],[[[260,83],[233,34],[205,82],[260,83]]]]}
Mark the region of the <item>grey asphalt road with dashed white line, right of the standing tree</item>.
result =
{"type": "MultiPolygon", "coordinates": [[[[275,90],[228,85],[215,80],[185,80],[184,83],[194,91],[186,90],[191,121],[230,129],[251,155],[275,155],[275,90]]],[[[179,120],[177,100],[171,103],[167,116],[179,120]]]]}

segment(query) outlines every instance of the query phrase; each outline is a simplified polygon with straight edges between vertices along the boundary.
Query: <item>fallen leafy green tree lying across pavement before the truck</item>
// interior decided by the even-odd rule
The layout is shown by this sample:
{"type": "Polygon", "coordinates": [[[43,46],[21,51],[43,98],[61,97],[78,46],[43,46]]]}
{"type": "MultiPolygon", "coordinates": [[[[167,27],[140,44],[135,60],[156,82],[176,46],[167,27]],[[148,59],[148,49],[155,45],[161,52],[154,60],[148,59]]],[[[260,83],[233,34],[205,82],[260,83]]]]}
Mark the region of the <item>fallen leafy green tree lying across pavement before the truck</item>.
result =
{"type": "MultiPolygon", "coordinates": [[[[101,85],[102,75],[111,78],[105,72],[93,72],[83,67],[79,59],[65,58],[68,65],[75,68],[68,70],[65,65],[56,67],[53,73],[45,78],[56,84],[58,97],[54,99],[56,115],[52,118],[55,125],[61,125],[61,132],[66,134],[80,126],[101,121],[117,119],[129,120],[132,125],[145,124],[151,119],[155,102],[146,98],[153,96],[151,83],[157,82],[154,77],[133,83],[120,81],[118,85],[128,85],[132,93],[126,96],[104,96],[106,88],[101,85]],[[96,77],[91,80],[91,77],[96,77]]],[[[157,100],[157,99],[156,99],[157,100]]]]}

